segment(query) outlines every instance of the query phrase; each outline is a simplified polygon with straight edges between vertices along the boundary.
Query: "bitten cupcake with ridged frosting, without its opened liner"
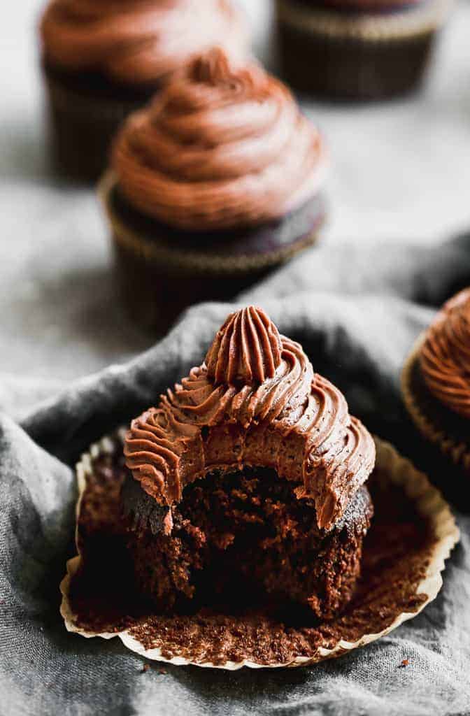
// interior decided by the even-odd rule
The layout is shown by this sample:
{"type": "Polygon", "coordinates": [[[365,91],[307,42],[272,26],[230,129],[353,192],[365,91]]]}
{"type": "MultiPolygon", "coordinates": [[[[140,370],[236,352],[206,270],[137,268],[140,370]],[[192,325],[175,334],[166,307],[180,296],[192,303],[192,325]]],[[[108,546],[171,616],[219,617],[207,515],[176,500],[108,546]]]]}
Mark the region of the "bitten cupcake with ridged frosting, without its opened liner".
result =
{"type": "Polygon", "coordinates": [[[158,610],[267,594],[325,619],[350,600],[375,446],[261,309],[229,316],[124,452],[135,579],[158,610]]]}

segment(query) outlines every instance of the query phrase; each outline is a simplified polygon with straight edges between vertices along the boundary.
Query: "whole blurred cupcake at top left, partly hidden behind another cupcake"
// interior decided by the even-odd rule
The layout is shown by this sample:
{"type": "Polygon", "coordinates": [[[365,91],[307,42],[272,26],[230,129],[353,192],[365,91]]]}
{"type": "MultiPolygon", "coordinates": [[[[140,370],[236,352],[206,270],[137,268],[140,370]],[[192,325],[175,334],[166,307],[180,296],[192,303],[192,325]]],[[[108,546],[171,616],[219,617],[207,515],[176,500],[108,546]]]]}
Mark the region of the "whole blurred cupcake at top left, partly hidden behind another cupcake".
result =
{"type": "Polygon", "coordinates": [[[100,175],[124,117],[193,57],[246,48],[231,0],[52,0],[41,37],[53,157],[80,180],[100,175]]]}

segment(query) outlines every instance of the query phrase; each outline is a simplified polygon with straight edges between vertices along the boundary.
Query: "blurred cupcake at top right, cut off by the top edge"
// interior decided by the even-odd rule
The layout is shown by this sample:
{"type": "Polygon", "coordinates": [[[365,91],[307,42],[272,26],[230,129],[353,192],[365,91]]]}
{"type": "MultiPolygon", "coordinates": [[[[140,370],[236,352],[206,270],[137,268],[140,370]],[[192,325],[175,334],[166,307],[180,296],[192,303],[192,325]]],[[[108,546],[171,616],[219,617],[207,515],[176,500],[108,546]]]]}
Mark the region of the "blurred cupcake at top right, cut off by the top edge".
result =
{"type": "Polygon", "coordinates": [[[277,0],[282,67],[297,89],[378,100],[416,89],[451,0],[277,0]]]}

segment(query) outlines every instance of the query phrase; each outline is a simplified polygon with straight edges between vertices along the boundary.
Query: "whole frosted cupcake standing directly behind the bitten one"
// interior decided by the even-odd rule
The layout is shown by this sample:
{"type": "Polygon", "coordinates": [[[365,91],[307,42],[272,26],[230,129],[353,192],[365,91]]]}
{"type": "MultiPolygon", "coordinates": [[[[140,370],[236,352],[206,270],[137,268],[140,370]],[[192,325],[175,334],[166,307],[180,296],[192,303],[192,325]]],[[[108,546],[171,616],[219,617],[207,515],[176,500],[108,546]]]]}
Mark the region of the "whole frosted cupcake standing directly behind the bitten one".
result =
{"type": "Polygon", "coordinates": [[[320,132],[289,89],[221,49],[195,60],[115,140],[102,196],[120,284],[165,330],[310,246],[325,216],[320,132]]]}

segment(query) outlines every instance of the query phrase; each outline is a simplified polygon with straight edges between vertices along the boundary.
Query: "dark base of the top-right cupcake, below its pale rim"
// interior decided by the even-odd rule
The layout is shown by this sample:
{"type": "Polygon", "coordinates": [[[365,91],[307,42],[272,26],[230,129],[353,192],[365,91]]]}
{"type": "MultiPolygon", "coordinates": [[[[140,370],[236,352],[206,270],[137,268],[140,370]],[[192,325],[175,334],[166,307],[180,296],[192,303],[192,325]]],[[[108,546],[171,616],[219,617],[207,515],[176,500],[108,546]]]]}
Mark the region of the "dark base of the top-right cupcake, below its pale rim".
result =
{"type": "Polygon", "coordinates": [[[418,89],[436,32],[392,39],[351,39],[279,24],[282,74],[292,87],[333,101],[384,100],[418,89]]]}

